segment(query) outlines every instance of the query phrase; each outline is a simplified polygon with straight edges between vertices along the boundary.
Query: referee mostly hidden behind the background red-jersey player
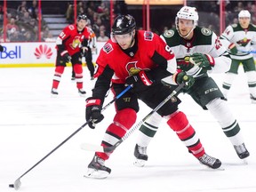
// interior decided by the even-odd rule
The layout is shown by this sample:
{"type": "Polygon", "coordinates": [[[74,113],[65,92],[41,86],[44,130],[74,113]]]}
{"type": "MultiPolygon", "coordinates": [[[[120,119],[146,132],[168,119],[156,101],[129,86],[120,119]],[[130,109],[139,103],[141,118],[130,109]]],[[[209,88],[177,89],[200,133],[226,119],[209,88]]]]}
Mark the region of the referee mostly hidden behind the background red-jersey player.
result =
{"type": "MultiPolygon", "coordinates": [[[[92,63],[92,51],[96,50],[97,38],[96,38],[96,35],[93,32],[92,28],[89,28],[88,26],[86,28],[90,32],[90,38],[88,39],[87,46],[84,47],[84,50],[82,52],[82,57],[85,58],[86,66],[90,71],[91,80],[93,80],[94,79],[94,77],[93,77],[93,75],[94,75],[94,65],[92,63]]],[[[71,80],[76,80],[74,68],[72,68],[71,80]]]]}

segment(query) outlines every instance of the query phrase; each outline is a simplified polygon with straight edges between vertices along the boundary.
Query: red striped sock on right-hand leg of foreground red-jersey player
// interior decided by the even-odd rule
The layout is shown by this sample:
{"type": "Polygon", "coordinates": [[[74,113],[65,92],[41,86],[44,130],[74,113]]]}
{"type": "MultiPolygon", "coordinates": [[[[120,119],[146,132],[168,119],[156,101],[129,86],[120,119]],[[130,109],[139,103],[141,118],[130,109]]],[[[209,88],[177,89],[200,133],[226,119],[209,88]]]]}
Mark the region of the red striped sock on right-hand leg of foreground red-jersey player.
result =
{"type": "Polygon", "coordinates": [[[178,135],[180,140],[186,145],[188,151],[196,158],[204,155],[204,148],[196,135],[194,128],[188,123],[187,116],[181,111],[174,112],[167,124],[178,135]]]}

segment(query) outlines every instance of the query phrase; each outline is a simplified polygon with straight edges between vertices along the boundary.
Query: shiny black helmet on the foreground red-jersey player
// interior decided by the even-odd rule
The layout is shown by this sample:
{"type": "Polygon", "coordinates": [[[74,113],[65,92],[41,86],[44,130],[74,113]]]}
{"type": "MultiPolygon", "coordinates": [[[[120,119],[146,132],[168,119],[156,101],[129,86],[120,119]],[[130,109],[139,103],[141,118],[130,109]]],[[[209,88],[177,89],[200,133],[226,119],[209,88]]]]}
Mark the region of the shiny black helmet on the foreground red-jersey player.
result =
{"type": "Polygon", "coordinates": [[[119,15],[112,26],[113,35],[123,35],[132,32],[136,28],[136,22],[132,15],[119,15]]]}

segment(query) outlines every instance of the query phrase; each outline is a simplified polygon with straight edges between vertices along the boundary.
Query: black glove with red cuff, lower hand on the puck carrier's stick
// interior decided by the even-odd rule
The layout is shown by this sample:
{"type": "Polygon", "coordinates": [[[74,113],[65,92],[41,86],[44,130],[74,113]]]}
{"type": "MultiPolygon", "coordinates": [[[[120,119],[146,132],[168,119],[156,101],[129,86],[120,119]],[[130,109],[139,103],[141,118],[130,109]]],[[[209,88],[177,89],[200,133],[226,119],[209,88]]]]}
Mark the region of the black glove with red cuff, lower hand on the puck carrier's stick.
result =
{"type": "Polygon", "coordinates": [[[87,98],[86,100],[86,110],[85,110],[85,119],[88,123],[89,127],[94,129],[95,125],[100,123],[104,116],[101,114],[101,100],[95,98],[87,98]]]}

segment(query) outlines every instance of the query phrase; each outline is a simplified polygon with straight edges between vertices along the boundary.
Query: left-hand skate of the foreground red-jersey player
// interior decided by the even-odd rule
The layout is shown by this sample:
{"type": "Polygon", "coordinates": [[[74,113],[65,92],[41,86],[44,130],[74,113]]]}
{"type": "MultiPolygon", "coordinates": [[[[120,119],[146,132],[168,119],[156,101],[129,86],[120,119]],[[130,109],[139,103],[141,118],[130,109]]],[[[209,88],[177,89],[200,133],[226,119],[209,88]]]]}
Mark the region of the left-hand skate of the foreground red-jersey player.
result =
{"type": "Polygon", "coordinates": [[[92,162],[88,165],[88,171],[84,175],[87,178],[105,179],[110,174],[111,169],[105,166],[105,160],[99,156],[93,156],[92,162]]]}

